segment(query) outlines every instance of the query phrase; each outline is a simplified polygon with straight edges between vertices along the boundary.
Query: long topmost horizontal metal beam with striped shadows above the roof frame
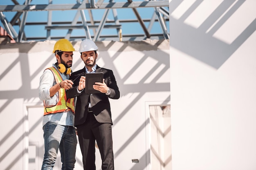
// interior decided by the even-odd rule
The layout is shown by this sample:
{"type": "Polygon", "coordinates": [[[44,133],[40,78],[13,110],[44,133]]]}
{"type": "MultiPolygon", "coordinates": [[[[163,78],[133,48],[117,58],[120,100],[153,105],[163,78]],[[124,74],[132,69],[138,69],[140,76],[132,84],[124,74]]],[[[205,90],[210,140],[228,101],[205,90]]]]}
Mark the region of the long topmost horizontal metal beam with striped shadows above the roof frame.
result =
{"type": "Polygon", "coordinates": [[[62,11],[83,9],[118,9],[118,8],[140,8],[140,7],[168,7],[168,0],[138,1],[138,2],[108,2],[102,3],[98,8],[92,8],[90,3],[86,4],[24,4],[24,5],[0,5],[2,12],[24,12],[24,11],[62,11]]]}

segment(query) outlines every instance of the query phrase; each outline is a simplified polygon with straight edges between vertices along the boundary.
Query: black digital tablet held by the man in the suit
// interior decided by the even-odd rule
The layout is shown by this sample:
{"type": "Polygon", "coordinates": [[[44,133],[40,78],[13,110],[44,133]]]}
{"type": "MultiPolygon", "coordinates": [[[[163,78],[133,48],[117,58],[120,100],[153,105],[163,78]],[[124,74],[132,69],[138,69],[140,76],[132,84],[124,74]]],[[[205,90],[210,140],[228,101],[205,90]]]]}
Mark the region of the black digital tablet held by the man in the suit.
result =
{"type": "Polygon", "coordinates": [[[85,93],[101,93],[98,90],[93,89],[95,82],[103,83],[103,73],[86,73],[85,74],[85,93]]]}

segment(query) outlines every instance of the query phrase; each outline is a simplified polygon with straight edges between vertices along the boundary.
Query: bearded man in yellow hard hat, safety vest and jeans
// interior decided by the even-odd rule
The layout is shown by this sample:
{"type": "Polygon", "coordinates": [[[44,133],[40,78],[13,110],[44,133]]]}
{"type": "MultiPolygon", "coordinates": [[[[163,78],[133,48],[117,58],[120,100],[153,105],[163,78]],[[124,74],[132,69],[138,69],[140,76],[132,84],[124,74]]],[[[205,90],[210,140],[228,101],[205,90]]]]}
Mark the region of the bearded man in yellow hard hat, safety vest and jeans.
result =
{"type": "Polygon", "coordinates": [[[39,98],[43,100],[43,131],[45,155],[42,170],[52,170],[61,152],[62,170],[73,170],[76,162],[76,131],[74,98],[67,99],[66,90],[73,85],[70,77],[74,47],[67,39],[54,45],[57,62],[40,77],[39,98]]]}

